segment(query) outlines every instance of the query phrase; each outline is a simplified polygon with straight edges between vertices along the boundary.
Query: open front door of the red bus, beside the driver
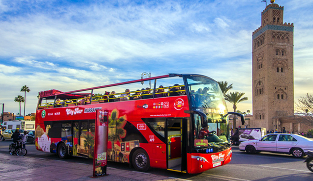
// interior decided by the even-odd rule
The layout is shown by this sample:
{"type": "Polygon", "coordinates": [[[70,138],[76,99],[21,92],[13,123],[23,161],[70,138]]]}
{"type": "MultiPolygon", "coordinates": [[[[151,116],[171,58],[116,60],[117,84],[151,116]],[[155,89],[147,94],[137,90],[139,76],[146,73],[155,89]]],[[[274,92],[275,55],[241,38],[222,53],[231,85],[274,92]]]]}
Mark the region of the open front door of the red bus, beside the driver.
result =
{"type": "Polygon", "coordinates": [[[187,119],[169,118],[166,125],[167,169],[186,172],[187,119]]]}

